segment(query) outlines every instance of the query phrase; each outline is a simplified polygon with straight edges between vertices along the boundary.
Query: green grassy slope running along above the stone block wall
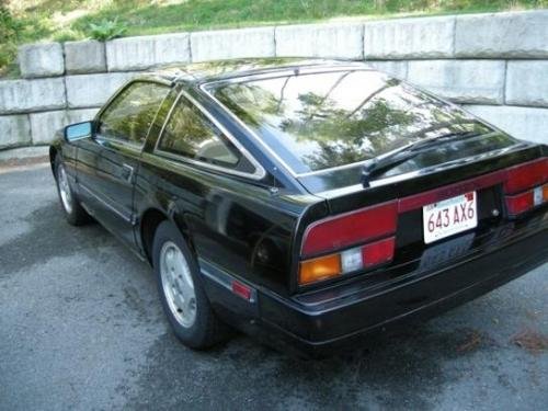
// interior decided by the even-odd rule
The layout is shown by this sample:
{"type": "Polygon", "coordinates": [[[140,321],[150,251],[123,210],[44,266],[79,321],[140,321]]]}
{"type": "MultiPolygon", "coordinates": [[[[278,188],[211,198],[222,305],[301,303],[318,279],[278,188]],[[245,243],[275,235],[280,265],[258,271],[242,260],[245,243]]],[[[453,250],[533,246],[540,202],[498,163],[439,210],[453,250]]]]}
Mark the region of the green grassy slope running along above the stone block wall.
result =
{"type": "Polygon", "coordinates": [[[0,0],[0,73],[13,71],[19,44],[37,41],[547,7],[548,0],[0,0]]]}

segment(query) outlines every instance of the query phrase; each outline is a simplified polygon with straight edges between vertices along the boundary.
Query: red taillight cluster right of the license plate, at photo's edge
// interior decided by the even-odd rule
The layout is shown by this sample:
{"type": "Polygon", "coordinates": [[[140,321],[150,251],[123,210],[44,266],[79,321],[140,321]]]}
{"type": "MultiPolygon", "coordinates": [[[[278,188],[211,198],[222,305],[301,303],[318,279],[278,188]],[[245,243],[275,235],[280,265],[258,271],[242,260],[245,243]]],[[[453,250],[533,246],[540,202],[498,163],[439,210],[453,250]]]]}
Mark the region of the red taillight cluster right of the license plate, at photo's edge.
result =
{"type": "Polygon", "coordinates": [[[546,203],[547,181],[548,158],[510,169],[504,181],[509,215],[515,217],[546,203]]]}

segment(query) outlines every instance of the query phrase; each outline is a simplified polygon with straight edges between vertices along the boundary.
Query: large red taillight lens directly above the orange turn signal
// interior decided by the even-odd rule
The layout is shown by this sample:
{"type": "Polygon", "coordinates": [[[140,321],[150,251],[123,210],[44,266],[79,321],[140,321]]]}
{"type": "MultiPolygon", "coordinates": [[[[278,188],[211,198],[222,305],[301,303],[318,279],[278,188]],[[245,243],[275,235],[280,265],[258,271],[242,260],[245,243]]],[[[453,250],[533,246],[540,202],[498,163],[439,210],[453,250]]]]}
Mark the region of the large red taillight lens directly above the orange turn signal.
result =
{"type": "Polygon", "coordinates": [[[309,226],[302,240],[302,256],[310,256],[367,242],[396,232],[398,203],[384,203],[327,218],[309,226]]]}

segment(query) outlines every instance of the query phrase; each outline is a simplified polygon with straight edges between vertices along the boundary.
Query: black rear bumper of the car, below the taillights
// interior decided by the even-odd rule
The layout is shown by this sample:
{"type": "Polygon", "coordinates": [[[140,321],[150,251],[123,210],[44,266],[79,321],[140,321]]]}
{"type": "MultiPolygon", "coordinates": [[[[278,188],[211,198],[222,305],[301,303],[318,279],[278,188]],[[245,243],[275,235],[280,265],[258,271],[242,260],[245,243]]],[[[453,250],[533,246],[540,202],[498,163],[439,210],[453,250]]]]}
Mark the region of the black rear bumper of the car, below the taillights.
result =
{"type": "Polygon", "coordinates": [[[252,305],[236,310],[224,297],[218,301],[240,328],[270,345],[329,354],[379,330],[434,317],[548,261],[548,214],[501,229],[503,235],[461,259],[410,271],[381,287],[354,282],[290,299],[258,290],[252,305]]]}

